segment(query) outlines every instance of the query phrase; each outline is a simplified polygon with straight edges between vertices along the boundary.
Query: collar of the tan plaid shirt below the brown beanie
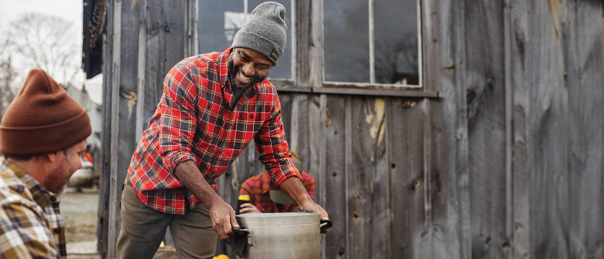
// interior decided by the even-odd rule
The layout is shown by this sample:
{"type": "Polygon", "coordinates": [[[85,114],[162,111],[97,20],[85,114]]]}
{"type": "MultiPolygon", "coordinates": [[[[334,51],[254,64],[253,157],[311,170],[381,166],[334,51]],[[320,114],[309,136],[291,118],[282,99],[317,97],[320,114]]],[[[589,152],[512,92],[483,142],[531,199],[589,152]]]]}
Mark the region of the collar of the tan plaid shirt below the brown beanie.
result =
{"type": "Polygon", "coordinates": [[[61,201],[59,195],[54,194],[43,187],[36,179],[34,179],[34,177],[31,177],[30,174],[23,170],[23,168],[19,167],[19,165],[5,158],[2,158],[2,160],[2,163],[13,171],[14,176],[25,184],[25,188],[30,190],[31,196],[33,196],[37,205],[45,208],[48,203],[59,203],[61,201]]]}

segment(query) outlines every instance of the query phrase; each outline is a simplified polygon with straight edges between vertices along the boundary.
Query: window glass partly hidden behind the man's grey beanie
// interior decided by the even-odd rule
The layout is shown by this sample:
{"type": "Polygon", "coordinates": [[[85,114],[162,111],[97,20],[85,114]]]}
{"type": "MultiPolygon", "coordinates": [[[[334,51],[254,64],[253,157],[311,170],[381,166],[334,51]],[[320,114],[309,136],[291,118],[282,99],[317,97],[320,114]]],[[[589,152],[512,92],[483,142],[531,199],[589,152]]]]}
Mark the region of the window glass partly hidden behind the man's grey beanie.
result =
{"type": "MultiPolygon", "coordinates": [[[[269,77],[292,78],[292,14],[291,0],[273,0],[283,4],[288,25],[288,39],[283,57],[271,69],[269,77]]],[[[265,1],[249,0],[248,15],[243,13],[245,0],[199,1],[199,52],[224,51],[233,43],[233,37],[248,21],[249,13],[265,1]]]]}

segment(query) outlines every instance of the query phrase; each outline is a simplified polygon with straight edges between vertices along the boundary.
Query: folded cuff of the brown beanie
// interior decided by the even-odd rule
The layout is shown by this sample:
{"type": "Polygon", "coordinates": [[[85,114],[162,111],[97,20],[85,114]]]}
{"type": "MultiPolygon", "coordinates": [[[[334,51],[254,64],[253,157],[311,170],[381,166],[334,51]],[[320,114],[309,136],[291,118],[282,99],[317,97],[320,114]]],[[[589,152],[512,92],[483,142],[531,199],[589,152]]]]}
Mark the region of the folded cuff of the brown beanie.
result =
{"type": "Polygon", "coordinates": [[[0,153],[39,155],[65,150],[92,133],[86,110],[57,124],[39,127],[0,127],[0,153]]]}

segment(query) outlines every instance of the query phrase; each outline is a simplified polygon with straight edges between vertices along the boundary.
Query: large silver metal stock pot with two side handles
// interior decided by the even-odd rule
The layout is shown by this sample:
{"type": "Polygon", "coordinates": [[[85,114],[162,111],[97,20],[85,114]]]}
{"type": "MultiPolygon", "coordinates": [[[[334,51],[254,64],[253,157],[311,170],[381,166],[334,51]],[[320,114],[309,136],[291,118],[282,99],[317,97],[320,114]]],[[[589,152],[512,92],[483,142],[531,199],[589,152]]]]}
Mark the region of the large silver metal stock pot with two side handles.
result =
{"type": "Polygon", "coordinates": [[[227,242],[238,258],[318,259],[321,223],[318,213],[260,213],[237,215],[240,228],[227,242]]]}

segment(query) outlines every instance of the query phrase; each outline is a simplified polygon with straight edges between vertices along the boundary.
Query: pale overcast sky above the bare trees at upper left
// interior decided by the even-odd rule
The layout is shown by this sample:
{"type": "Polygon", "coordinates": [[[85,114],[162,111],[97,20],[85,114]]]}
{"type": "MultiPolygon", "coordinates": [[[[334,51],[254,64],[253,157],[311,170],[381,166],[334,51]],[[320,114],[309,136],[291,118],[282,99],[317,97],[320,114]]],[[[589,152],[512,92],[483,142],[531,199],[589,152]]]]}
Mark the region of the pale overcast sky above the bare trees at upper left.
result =
{"type": "MultiPolygon", "coordinates": [[[[10,27],[11,22],[19,19],[26,13],[43,13],[60,16],[73,22],[71,34],[77,46],[82,46],[82,0],[0,0],[0,33],[5,33],[5,28],[10,27]]],[[[92,101],[100,103],[102,100],[100,77],[93,78],[92,82],[86,83],[92,101]]],[[[85,83],[85,74],[82,71],[73,85],[81,88],[85,83]]]]}

